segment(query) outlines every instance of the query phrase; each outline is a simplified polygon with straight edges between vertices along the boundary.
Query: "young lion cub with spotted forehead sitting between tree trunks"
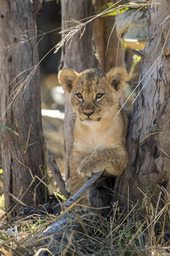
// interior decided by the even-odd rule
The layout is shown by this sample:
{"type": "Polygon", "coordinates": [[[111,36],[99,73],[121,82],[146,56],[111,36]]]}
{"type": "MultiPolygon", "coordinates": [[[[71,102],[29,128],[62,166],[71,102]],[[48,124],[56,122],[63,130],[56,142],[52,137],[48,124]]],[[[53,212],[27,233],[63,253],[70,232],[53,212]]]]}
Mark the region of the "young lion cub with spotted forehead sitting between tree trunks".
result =
{"type": "MultiPolygon", "coordinates": [[[[59,72],[59,81],[70,95],[77,118],[74,143],[70,154],[70,195],[94,173],[118,176],[128,163],[125,136],[128,119],[120,110],[126,70],[114,67],[107,74],[98,69],[77,73],[59,72]]],[[[83,204],[88,204],[87,194],[83,204]]]]}

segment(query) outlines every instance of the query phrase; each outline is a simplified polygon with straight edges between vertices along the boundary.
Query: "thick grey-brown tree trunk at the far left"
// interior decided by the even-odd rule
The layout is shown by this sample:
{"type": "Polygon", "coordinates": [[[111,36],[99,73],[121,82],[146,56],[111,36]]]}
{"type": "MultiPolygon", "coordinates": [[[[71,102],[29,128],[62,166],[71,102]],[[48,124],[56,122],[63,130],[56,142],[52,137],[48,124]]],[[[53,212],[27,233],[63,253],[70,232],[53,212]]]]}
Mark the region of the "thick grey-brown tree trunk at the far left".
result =
{"type": "Polygon", "coordinates": [[[0,0],[0,6],[2,169],[8,209],[15,202],[9,193],[19,197],[21,192],[21,201],[28,205],[45,202],[45,186],[37,179],[32,182],[35,176],[45,178],[45,152],[39,70],[34,70],[38,50],[32,3],[0,0]],[[16,92],[15,104],[10,106],[16,92]]]}

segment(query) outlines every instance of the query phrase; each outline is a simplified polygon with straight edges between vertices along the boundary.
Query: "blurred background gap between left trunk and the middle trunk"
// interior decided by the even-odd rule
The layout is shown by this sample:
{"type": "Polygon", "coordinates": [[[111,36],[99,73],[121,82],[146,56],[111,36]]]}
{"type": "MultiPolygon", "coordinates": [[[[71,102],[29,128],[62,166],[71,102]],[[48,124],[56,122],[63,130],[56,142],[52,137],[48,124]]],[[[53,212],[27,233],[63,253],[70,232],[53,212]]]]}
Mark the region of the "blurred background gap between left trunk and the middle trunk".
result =
{"type": "Polygon", "coordinates": [[[61,50],[54,54],[54,46],[61,40],[61,3],[45,1],[36,18],[40,59],[42,124],[45,141],[56,156],[60,170],[64,165],[64,93],[57,80],[61,50]]]}

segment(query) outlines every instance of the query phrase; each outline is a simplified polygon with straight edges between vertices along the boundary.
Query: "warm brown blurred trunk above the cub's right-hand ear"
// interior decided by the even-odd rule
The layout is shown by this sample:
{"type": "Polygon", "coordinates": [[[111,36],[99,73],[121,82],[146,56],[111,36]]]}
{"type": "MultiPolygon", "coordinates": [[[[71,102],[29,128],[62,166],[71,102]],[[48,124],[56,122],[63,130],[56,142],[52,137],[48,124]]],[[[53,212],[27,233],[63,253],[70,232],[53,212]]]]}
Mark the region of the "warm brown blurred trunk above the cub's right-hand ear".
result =
{"type": "MultiPolygon", "coordinates": [[[[109,0],[96,1],[96,13],[99,7],[110,2],[109,0]]],[[[125,67],[125,49],[117,38],[115,17],[100,17],[94,21],[94,41],[100,60],[100,69],[108,72],[115,66],[125,67]],[[115,27],[115,28],[114,28],[115,27]]]]}

